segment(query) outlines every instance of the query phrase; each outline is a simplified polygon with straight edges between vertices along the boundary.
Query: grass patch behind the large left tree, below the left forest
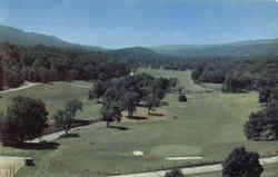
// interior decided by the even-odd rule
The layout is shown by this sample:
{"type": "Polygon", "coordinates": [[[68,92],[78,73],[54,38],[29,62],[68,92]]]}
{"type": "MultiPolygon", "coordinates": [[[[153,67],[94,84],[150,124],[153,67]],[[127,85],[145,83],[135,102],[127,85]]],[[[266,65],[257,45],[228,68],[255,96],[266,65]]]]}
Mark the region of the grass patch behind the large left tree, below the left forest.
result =
{"type": "Polygon", "coordinates": [[[95,101],[88,100],[88,91],[91,88],[90,82],[73,81],[73,82],[53,82],[47,85],[34,86],[30,89],[23,89],[16,92],[1,94],[0,111],[6,111],[7,106],[11,102],[11,99],[16,96],[27,96],[31,98],[42,99],[49,111],[49,118],[58,109],[62,109],[66,101],[70,99],[80,99],[83,102],[83,111],[77,115],[79,119],[95,119],[99,118],[99,107],[95,101]]]}

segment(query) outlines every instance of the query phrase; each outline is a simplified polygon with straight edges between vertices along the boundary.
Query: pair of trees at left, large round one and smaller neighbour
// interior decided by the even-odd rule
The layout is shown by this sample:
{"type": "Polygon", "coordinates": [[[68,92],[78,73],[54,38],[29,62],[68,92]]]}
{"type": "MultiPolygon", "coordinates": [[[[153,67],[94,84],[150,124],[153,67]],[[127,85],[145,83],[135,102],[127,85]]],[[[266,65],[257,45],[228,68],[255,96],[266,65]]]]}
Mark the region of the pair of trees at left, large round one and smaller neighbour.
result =
{"type": "MultiPolygon", "coordinates": [[[[82,110],[82,102],[73,99],[66,102],[53,116],[57,127],[68,134],[75,124],[77,111],[82,110]]],[[[27,140],[42,136],[49,127],[48,110],[40,99],[14,97],[7,112],[1,115],[0,138],[4,146],[20,146],[27,140]]]]}

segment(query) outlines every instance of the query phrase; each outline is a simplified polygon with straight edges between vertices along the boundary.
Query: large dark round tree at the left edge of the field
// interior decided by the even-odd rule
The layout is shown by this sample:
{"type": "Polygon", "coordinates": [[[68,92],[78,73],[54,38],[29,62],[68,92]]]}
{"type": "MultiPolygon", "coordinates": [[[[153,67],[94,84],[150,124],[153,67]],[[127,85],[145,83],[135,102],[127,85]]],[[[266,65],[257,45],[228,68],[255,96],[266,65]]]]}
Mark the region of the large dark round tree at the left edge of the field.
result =
{"type": "Polygon", "coordinates": [[[16,97],[9,105],[6,122],[1,128],[4,144],[22,144],[24,140],[41,136],[48,126],[48,111],[40,99],[16,97]]]}

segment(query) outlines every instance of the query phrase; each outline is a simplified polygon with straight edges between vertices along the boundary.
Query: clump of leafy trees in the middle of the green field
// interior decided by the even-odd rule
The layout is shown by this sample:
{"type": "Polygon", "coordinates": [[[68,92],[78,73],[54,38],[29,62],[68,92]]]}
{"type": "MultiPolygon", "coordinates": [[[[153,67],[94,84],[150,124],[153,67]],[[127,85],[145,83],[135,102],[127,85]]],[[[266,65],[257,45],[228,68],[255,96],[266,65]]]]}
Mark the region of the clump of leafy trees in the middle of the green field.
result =
{"type": "Polygon", "coordinates": [[[160,106],[161,99],[177,86],[176,78],[153,78],[148,73],[139,73],[109,81],[97,81],[89,91],[89,99],[102,98],[101,114],[103,120],[120,121],[121,111],[127,110],[132,117],[140,102],[148,109],[160,106]]]}

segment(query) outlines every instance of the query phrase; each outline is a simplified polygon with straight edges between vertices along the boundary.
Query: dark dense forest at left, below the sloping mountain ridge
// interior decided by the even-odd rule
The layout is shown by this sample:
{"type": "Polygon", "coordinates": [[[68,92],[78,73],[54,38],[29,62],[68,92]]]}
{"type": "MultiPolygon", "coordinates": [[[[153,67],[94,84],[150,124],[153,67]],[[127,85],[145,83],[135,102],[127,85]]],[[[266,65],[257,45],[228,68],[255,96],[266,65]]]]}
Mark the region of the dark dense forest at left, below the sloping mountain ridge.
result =
{"type": "Polygon", "coordinates": [[[46,46],[20,47],[2,43],[4,85],[13,88],[23,81],[109,80],[129,75],[131,62],[117,55],[59,49],[46,46]]]}

